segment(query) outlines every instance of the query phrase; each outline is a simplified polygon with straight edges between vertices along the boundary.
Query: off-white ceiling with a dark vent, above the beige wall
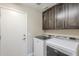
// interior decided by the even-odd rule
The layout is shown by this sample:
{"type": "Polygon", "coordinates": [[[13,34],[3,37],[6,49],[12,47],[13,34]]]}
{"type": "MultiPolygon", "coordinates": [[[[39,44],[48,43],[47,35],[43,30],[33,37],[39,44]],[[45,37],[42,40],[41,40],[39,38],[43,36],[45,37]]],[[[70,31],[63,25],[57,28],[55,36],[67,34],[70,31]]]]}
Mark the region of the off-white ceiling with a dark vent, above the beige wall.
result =
{"type": "Polygon", "coordinates": [[[56,5],[57,3],[23,3],[24,6],[35,8],[39,11],[45,11],[46,9],[56,5]]]}

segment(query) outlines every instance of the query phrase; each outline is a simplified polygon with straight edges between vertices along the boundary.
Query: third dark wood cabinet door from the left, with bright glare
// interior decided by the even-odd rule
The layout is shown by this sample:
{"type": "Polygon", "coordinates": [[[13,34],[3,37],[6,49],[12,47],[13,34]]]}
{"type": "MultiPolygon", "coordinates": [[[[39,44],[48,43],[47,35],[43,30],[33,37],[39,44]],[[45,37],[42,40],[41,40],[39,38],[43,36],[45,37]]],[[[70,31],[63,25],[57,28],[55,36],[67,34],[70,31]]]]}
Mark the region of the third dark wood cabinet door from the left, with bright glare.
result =
{"type": "Polygon", "coordinates": [[[64,29],[64,8],[63,4],[55,6],[56,29],[64,29]]]}

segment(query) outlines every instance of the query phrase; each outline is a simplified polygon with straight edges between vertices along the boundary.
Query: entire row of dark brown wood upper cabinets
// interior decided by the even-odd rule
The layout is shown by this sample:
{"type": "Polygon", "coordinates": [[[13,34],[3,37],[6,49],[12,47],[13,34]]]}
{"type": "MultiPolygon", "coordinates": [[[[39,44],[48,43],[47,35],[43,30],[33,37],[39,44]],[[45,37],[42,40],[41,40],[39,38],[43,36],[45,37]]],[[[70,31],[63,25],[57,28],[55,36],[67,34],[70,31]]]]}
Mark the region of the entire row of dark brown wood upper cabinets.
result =
{"type": "Polygon", "coordinates": [[[79,29],[79,4],[62,3],[43,12],[43,29],[79,29]]]}

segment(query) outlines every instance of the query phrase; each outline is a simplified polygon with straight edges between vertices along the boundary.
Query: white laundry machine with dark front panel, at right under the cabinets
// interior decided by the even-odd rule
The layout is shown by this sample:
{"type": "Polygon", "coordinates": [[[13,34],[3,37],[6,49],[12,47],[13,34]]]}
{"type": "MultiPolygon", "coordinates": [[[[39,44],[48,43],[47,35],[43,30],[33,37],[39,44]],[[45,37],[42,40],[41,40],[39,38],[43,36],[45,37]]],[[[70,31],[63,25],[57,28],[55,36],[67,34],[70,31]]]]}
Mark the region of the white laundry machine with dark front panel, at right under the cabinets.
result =
{"type": "Polygon", "coordinates": [[[47,55],[49,56],[77,56],[79,42],[67,38],[52,38],[46,41],[47,55]]]}

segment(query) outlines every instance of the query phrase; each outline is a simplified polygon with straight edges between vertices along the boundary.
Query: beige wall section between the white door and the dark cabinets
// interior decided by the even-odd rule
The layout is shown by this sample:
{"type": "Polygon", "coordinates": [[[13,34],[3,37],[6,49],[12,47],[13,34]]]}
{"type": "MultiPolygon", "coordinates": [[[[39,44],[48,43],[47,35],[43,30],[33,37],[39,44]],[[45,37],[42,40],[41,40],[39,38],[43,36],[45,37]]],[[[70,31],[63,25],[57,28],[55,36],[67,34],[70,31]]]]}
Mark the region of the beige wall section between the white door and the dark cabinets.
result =
{"type": "Polygon", "coordinates": [[[33,36],[43,33],[42,31],[42,14],[32,8],[27,11],[27,32],[28,32],[28,54],[33,52],[33,36]],[[32,36],[32,37],[31,37],[32,36]]]}

